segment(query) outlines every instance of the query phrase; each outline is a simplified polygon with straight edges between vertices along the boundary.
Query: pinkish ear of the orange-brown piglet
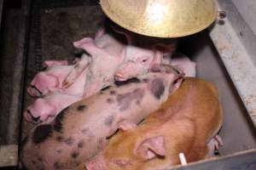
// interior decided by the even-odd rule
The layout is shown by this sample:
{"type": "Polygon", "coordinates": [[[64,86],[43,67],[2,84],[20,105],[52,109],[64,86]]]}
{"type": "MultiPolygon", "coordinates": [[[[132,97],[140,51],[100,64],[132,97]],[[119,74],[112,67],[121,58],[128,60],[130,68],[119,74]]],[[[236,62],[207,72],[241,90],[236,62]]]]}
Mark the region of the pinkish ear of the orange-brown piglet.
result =
{"type": "Polygon", "coordinates": [[[138,144],[135,154],[142,156],[145,159],[151,159],[155,156],[165,156],[165,141],[162,135],[150,139],[144,139],[138,144]]]}

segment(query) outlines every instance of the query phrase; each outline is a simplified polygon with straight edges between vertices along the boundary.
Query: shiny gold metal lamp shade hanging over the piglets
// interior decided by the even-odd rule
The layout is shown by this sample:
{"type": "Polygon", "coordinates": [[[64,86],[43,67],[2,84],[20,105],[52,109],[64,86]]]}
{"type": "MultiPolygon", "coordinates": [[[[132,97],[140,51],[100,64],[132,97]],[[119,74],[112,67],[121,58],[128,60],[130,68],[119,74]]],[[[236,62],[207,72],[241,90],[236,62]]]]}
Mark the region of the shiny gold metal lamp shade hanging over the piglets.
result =
{"type": "Polygon", "coordinates": [[[151,37],[183,37],[210,26],[217,16],[212,0],[101,0],[119,26],[151,37]]]}

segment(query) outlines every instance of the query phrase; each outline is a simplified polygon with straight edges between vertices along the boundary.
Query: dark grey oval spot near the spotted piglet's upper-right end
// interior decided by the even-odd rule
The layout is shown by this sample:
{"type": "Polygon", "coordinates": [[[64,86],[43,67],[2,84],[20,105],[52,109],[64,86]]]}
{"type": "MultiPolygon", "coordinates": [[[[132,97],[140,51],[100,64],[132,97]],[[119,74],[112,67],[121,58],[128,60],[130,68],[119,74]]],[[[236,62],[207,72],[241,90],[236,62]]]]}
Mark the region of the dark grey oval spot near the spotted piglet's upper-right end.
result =
{"type": "Polygon", "coordinates": [[[161,95],[165,93],[165,84],[160,78],[155,78],[150,85],[150,92],[156,99],[160,99],[161,95]]]}

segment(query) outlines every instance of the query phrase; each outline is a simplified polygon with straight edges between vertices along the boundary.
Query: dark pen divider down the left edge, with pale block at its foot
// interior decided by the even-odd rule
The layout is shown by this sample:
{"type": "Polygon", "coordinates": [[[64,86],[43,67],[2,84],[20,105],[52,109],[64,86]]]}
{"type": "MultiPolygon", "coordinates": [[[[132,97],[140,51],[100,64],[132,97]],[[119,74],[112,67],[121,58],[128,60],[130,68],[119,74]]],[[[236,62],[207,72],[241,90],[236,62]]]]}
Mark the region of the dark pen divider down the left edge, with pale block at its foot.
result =
{"type": "Polygon", "coordinates": [[[3,2],[0,37],[3,69],[1,70],[3,81],[1,82],[0,167],[4,168],[16,167],[18,164],[30,12],[31,0],[18,2],[14,6],[7,1],[3,2]],[[15,23],[11,20],[15,20],[15,23]]]}

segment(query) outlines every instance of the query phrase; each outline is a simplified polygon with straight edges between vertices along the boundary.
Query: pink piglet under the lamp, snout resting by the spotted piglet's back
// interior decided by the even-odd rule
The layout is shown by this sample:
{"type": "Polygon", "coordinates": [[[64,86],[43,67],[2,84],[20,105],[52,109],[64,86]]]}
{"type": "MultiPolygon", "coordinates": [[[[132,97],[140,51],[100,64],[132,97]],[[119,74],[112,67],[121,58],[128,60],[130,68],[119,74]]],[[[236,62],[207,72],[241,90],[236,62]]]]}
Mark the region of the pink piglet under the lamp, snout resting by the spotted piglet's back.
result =
{"type": "Polygon", "coordinates": [[[152,65],[163,63],[165,56],[172,56],[177,46],[177,39],[144,37],[118,26],[114,31],[125,35],[128,44],[124,49],[124,61],[114,73],[115,80],[125,81],[147,73],[152,65]]]}

